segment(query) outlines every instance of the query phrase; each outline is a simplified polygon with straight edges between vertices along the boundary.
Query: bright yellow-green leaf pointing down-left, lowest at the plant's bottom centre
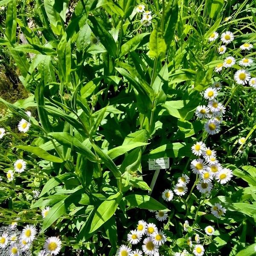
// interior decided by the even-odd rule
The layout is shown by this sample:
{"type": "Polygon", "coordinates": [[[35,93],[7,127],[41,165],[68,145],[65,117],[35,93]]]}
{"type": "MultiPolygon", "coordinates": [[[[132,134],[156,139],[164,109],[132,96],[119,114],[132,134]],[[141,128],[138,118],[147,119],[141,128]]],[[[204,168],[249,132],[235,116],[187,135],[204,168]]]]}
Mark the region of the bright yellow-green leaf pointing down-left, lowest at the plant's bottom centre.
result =
{"type": "Polygon", "coordinates": [[[102,224],[104,224],[113,216],[121,199],[122,194],[120,192],[117,192],[115,195],[111,195],[108,199],[106,199],[106,201],[100,204],[93,217],[89,233],[93,233],[94,231],[99,229],[102,224]]]}

